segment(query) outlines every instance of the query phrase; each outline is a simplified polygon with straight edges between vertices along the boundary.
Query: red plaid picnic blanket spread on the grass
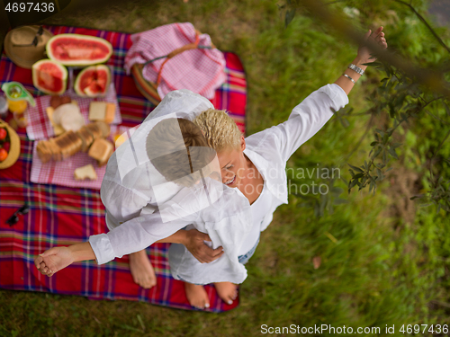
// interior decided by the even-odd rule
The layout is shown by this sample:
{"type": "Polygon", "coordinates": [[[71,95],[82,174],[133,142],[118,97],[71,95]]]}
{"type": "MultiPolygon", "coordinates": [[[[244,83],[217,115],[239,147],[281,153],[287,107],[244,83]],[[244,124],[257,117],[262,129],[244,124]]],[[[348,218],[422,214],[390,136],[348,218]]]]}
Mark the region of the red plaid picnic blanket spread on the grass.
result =
{"type": "MultiPolygon", "coordinates": [[[[94,35],[112,43],[114,52],[108,65],[114,72],[122,126],[134,127],[153,110],[154,106],[144,99],[123,69],[124,56],[131,45],[130,34],[63,26],[47,28],[54,34],[94,35]]],[[[247,102],[244,69],[236,54],[225,52],[224,56],[227,81],[211,102],[218,109],[230,111],[239,129],[244,131],[247,102]]],[[[14,66],[2,55],[0,84],[9,81],[21,82],[31,93],[37,93],[31,84],[31,70],[14,66]]],[[[147,249],[157,273],[157,286],[150,289],[140,288],[133,282],[126,256],[104,265],[94,261],[76,262],[51,278],[36,270],[33,261],[38,253],[52,246],[85,242],[90,235],[107,232],[107,227],[99,191],[31,182],[33,141],[26,137],[25,129],[19,129],[18,133],[21,137],[19,160],[0,171],[0,288],[95,299],[128,299],[193,309],[185,297],[183,283],[170,275],[166,259],[168,244],[153,244],[147,249]],[[30,212],[20,216],[14,226],[5,224],[24,203],[30,205],[30,212]]],[[[223,303],[213,286],[205,288],[211,299],[209,311],[222,312],[238,306],[238,300],[232,306],[223,303]]]]}

